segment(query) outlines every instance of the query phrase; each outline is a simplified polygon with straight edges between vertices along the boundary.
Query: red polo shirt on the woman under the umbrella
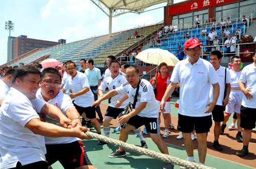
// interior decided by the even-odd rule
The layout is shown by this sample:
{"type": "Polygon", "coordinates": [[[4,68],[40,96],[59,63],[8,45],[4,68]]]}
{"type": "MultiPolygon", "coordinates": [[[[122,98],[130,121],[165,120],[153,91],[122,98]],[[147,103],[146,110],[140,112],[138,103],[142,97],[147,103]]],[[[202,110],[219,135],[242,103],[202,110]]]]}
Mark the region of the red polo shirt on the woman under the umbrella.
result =
{"type": "MultiPolygon", "coordinates": [[[[157,73],[156,78],[158,76],[159,73],[157,73]]],[[[167,78],[170,78],[170,75],[167,73],[167,76],[165,76],[164,78],[161,77],[161,73],[159,74],[159,77],[157,79],[157,93],[156,93],[156,100],[158,101],[162,101],[163,95],[166,91],[166,87],[167,87],[167,78]]],[[[153,77],[154,78],[154,77],[153,77]]],[[[152,83],[153,78],[150,80],[150,83],[152,83]]],[[[168,97],[168,99],[166,100],[167,102],[170,101],[170,97],[168,97]]]]}

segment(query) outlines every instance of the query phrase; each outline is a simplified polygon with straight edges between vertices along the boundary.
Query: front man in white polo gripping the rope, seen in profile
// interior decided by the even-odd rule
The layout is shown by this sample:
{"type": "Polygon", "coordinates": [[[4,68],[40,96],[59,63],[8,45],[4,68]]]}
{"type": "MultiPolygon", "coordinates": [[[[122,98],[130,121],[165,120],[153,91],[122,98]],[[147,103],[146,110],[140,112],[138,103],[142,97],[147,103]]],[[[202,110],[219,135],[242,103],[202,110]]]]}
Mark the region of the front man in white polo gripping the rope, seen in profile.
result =
{"type": "Polygon", "coordinates": [[[42,135],[89,138],[84,133],[87,131],[85,127],[67,129],[40,121],[37,112],[44,112],[49,117],[60,120],[62,126],[72,124],[57,107],[46,107],[48,103],[36,99],[40,73],[34,66],[27,65],[18,68],[13,75],[13,87],[0,108],[1,169],[47,169],[45,139],[42,135]]]}

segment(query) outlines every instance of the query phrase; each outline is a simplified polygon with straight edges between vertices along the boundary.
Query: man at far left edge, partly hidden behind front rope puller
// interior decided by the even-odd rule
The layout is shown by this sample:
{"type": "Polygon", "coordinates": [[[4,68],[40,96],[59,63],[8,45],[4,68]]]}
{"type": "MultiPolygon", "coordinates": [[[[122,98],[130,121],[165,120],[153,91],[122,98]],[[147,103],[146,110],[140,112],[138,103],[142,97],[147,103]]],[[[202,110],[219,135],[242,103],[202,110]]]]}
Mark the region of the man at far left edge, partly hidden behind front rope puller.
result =
{"type": "Polygon", "coordinates": [[[10,91],[10,88],[12,87],[12,76],[14,74],[15,70],[10,69],[5,73],[5,76],[0,79],[0,107],[6,98],[8,92],[10,91]]]}

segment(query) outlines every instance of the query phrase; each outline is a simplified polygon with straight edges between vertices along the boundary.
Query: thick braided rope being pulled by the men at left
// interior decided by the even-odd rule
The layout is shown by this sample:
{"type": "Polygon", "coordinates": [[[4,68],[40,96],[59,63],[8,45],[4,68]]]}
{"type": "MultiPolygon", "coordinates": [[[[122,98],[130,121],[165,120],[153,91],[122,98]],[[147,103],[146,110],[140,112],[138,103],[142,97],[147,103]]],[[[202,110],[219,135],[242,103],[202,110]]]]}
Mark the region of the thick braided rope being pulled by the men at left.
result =
{"type": "MultiPolygon", "coordinates": [[[[48,122],[52,123],[52,124],[56,124],[58,126],[61,126],[59,121],[57,121],[57,120],[49,119],[47,117],[43,117],[43,119],[45,121],[48,121],[48,122]]],[[[215,168],[212,168],[212,167],[199,165],[195,162],[190,162],[190,161],[182,160],[182,159],[177,158],[177,157],[172,157],[172,156],[167,155],[167,154],[157,153],[157,152],[152,151],[152,150],[148,150],[148,149],[141,148],[141,147],[138,147],[138,146],[135,146],[135,145],[127,144],[127,143],[124,143],[120,140],[109,138],[109,137],[106,137],[106,136],[103,136],[103,135],[100,135],[100,134],[97,134],[97,133],[93,133],[93,132],[90,132],[90,131],[86,131],[85,133],[89,137],[93,137],[93,138],[102,140],[105,143],[115,145],[115,146],[118,146],[118,147],[122,147],[126,150],[130,150],[130,151],[140,153],[140,154],[152,157],[152,158],[156,158],[156,159],[159,159],[159,160],[164,161],[164,162],[172,163],[172,164],[175,164],[175,165],[180,165],[180,166],[183,166],[185,168],[189,168],[189,169],[203,169],[203,168],[205,168],[205,169],[215,169],[215,168]]]]}

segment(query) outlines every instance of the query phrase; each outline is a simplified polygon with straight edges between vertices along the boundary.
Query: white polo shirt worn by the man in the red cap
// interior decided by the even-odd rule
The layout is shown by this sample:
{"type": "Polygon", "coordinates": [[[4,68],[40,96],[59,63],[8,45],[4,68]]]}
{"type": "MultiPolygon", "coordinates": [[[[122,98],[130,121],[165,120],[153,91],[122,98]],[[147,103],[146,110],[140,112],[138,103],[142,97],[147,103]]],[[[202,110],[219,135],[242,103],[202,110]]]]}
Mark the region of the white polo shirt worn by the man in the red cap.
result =
{"type": "Polygon", "coordinates": [[[180,61],[174,68],[170,81],[180,81],[179,114],[190,117],[204,117],[208,109],[205,107],[210,102],[211,84],[219,82],[214,67],[207,61],[199,60],[191,65],[188,58],[180,61]]]}

